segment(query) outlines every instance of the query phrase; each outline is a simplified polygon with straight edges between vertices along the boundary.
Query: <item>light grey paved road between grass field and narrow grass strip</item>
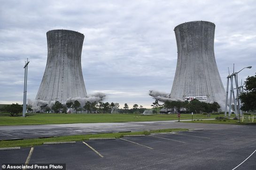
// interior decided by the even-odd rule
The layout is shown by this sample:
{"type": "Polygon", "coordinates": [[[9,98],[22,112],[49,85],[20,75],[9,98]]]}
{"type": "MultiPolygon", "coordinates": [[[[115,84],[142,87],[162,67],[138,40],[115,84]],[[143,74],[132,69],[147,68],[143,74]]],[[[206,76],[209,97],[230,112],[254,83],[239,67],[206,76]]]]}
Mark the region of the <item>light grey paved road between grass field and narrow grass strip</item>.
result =
{"type": "Polygon", "coordinates": [[[240,125],[181,123],[168,121],[137,121],[122,123],[74,123],[55,125],[0,126],[0,140],[12,138],[38,138],[46,136],[96,134],[104,132],[143,131],[165,128],[229,129],[246,128],[240,125]]]}

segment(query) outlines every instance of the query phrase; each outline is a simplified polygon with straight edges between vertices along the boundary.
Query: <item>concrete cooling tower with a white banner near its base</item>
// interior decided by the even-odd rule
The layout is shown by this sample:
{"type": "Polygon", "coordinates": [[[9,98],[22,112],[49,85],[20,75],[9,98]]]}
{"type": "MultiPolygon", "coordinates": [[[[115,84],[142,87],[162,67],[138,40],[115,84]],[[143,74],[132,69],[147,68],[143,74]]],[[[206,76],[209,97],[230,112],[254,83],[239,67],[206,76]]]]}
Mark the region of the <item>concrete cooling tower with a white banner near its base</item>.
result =
{"type": "Polygon", "coordinates": [[[225,90],[214,56],[215,24],[192,21],[174,28],[178,61],[171,98],[205,102],[225,99],[225,90]]]}

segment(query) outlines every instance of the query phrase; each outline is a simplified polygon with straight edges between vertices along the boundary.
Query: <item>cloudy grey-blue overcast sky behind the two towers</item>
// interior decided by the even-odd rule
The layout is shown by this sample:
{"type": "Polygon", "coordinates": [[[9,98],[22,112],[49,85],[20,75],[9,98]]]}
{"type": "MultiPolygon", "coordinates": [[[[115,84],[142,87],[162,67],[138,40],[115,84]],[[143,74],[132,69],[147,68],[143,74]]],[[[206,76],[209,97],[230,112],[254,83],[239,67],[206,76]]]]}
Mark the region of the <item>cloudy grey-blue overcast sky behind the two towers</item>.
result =
{"type": "Polygon", "coordinates": [[[174,27],[210,21],[215,57],[226,87],[227,67],[239,79],[256,73],[254,0],[0,0],[0,104],[23,101],[29,58],[28,99],[35,99],[47,62],[46,32],[85,35],[82,70],[87,93],[105,102],[150,107],[149,90],[170,93],[177,64],[174,27]]]}

